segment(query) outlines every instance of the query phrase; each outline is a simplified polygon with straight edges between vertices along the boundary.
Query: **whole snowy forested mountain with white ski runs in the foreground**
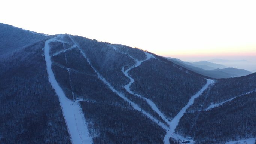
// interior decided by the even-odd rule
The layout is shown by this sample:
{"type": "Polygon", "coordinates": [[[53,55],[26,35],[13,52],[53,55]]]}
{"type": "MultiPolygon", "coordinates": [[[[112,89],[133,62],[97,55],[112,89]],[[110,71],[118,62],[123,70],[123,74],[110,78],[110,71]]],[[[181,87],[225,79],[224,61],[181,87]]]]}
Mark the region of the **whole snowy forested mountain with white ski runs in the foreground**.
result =
{"type": "MultiPolygon", "coordinates": [[[[182,130],[191,125],[183,123],[184,116],[197,116],[188,111],[211,102],[235,102],[225,94],[237,96],[256,89],[253,74],[213,80],[129,46],[38,34],[5,24],[0,33],[3,144],[206,144],[211,137],[196,132],[212,129],[191,121],[197,128],[191,129],[193,134],[182,130]],[[208,91],[210,99],[204,99],[208,91]]],[[[245,105],[256,96],[248,94],[240,96],[245,105]]],[[[250,107],[245,112],[251,116],[240,117],[250,122],[241,124],[246,132],[216,135],[210,143],[255,138],[255,113],[251,113],[255,106],[250,107]]]]}

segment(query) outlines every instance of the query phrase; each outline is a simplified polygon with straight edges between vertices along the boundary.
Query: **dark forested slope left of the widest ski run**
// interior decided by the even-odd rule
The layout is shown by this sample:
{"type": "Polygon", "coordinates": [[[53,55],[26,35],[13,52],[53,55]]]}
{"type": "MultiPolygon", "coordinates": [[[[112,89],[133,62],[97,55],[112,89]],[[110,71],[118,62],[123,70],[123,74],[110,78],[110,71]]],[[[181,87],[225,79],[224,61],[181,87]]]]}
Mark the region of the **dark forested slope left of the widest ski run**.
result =
{"type": "Polygon", "coordinates": [[[46,72],[45,40],[1,57],[0,144],[71,144],[46,72]]]}

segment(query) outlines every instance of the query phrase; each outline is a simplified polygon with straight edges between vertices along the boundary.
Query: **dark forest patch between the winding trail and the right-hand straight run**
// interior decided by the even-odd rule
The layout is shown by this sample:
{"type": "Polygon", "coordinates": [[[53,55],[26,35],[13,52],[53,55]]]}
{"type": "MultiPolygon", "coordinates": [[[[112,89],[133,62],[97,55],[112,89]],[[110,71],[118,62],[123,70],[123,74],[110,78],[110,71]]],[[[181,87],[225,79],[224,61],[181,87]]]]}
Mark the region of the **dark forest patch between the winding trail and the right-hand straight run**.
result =
{"type": "Polygon", "coordinates": [[[177,67],[170,67],[170,64],[158,59],[143,62],[140,67],[132,69],[130,74],[135,80],[131,89],[152,99],[170,118],[206,83],[206,79],[188,74],[177,67]]]}

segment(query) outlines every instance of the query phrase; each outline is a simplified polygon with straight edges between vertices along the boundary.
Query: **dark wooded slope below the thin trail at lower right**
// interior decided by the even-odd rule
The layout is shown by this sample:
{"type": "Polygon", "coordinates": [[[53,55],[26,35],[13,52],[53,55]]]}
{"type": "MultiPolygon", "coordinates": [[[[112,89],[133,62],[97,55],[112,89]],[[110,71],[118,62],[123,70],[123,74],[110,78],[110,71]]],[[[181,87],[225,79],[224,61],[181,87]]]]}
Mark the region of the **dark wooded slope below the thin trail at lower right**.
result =
{"type": "MultiPolygon", "coordinates": [[[[200,140],[205,140],[207,137],[212,141],[210,143],[214,144],[237,138],[255,138],[255,103],[256,92],[253,92],[201,113],[192,130],[195,132],[193,135],[200,140]]],[[[206,143],[209,144],[209,141],[206,143]]]]}

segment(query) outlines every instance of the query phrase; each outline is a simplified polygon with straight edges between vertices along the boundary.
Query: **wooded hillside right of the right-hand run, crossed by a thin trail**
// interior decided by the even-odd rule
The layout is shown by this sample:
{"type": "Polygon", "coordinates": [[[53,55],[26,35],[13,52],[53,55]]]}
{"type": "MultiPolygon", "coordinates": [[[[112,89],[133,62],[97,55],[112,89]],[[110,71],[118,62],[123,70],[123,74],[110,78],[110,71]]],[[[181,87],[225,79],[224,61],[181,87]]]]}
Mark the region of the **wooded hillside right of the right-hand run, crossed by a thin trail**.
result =
{"type": "Polygon", "coordinates": [[[182,117],[176,131],[198,144],[256,137],[256,74],[220,79],[182,117]]]}

